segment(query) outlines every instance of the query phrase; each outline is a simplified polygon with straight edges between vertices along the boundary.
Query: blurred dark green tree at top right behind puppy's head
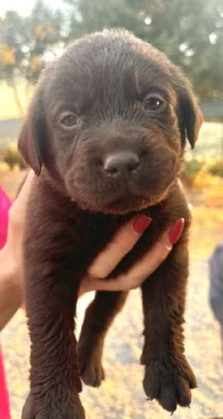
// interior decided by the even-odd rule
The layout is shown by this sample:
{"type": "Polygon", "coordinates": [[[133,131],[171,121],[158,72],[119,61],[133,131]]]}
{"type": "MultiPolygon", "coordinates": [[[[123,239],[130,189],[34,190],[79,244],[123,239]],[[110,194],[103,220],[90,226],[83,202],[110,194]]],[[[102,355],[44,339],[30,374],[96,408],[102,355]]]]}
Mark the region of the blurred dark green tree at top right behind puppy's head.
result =
{"type": "Polygon", "coordinates": [[[69,40],[104,27],[125,27],[166,52],[200,97],[223,94],[222,0],[65,0],[69,40]]]}

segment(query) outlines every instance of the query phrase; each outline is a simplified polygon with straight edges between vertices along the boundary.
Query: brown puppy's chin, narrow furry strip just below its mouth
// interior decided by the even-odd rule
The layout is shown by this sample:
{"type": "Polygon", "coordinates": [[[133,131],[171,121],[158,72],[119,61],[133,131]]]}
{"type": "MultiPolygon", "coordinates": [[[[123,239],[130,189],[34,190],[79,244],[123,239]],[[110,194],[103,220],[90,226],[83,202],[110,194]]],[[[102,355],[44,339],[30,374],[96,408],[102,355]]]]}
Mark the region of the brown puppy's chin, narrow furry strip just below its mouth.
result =
{"type": "Polygon", "coordinates": [[[77,196],[72,198],[72,201],[77,203],[77,205],[79,205],[79,207],[84,211],[123,215],[134,211],[138,212],[145,210],[148,207],[159,204],[162,200],[167,198],[168,191],[169,188],[159,196],[125,196],[109,203],[103,203],[103,201],[95,202],[93,200],[91,202],[86,202],[82,199],[79,199],[77,196]]]}

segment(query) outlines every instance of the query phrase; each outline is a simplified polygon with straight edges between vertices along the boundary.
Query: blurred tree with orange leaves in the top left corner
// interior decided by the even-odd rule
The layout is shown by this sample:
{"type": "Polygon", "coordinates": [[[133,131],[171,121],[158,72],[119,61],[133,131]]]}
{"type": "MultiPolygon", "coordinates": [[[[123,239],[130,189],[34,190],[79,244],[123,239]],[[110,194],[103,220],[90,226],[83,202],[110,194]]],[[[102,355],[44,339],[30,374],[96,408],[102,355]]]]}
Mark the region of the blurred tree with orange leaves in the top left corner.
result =
{"type": "Polygon", "coordinates": [[[53,13],[41,1],[28,17],[8,11],[0,19],[0,80],[13,88],[21,115],[17,83],[25,80],[29,87],[38,80],[47,61],[63,46],[62,31],[62,13],[53,13]]]}

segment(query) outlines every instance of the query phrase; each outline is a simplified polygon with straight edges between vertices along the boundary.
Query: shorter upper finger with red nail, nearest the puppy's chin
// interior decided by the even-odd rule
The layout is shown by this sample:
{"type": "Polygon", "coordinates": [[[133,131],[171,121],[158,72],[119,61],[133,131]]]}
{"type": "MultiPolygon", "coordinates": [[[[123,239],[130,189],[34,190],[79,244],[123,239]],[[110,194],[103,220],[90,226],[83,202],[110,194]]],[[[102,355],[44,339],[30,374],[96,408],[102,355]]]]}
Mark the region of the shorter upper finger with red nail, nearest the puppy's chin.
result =
{"type": "Polygon", "coordinates": [[[106,278],[134,247],[134,244],[139,240],[139,237],[144,233],[151,221],[151,218],[148,216],[141,215],[126,223],[121,230],[118,230],[118,233],[116,233],[105,250],[95,258],[89,269],[89,275],[93,278],[106,278]]]}

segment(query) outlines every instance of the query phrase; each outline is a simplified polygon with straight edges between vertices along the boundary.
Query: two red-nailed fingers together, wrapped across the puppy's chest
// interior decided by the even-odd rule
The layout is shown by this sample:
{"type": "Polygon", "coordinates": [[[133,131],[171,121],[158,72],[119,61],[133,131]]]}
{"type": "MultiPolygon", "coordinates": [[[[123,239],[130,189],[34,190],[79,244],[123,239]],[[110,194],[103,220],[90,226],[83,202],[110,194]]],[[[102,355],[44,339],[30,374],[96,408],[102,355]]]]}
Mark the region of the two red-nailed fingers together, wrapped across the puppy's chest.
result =
{"type": "Polygon", "coordinates": [[[157,243],[126,273],[115,279],[103,281],[116,265],[130,252],[151,223],[148,216],[137,216],[118,230],[112,242],[95,258],[89,275],[82,281],[79,296],[90,291],[130,291],[139,287],[159,265],[183,232],[184,219],[178,219],[166,230],[157,243]]]}

